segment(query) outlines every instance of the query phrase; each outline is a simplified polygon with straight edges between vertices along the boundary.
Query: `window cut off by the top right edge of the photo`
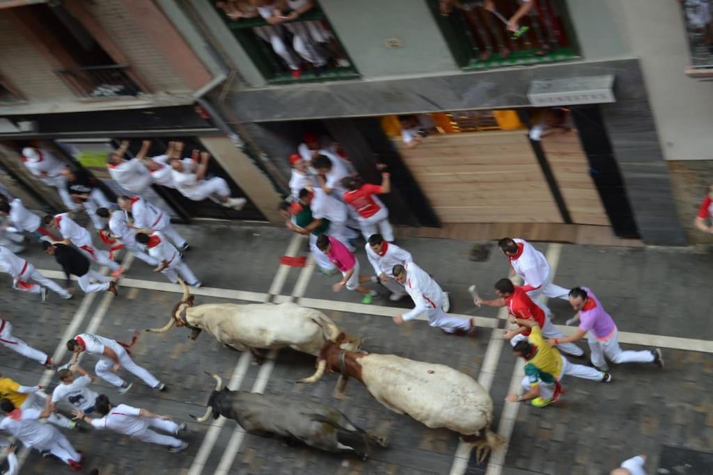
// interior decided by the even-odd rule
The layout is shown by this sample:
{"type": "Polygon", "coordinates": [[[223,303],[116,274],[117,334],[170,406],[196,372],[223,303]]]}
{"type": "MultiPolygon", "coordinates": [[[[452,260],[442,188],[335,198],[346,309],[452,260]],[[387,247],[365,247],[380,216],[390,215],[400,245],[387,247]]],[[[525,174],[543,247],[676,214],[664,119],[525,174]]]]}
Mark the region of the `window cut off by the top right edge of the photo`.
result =
{"type": "Polygon", "coordinates": [[[684,0],[681,5],[691,51],[689,74],[709,75],[713,72],[713,1],[684,0]]]}

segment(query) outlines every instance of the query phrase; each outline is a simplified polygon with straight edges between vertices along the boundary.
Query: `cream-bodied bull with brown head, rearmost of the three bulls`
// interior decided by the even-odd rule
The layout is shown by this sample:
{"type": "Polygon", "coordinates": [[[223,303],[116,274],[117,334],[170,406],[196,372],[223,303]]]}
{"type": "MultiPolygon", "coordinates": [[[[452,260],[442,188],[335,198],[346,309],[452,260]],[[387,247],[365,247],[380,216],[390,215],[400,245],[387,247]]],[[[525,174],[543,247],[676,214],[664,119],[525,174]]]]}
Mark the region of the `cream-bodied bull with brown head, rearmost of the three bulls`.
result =
{"type": "MultiPolygon", "coordinates": [[[[312,383],[324,371],[353,377],[381,404],[408,414],[431,428],[446,427],[477,448],[480,463],[503,439],[491,429],[493,400],[473,378],[444,365],[407,360],[396,355],[345,351],[327,342],[317,356],[317,371],[298,382],[312,383]],[[480,431],[483,437],[478,439],[480,431]]],[[[342,385],[343,390],[343,385],[342,385]]]]}

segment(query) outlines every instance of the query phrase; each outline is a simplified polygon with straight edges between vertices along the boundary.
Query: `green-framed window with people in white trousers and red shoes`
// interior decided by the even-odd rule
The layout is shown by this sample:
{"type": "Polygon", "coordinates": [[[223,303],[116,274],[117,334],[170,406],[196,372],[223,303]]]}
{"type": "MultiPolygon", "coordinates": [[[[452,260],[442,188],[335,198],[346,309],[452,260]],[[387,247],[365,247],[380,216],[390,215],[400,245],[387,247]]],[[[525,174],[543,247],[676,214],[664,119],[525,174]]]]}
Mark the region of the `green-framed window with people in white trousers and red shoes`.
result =
{"type": "Polygon", "coordinates": [[[289,0],[287,4],[296,9],[282,11],[277,4],[270,0],[259,7],[242,0],[215,2],[228,28],[268,82],[359,77],[316,1],[289,0]]]}

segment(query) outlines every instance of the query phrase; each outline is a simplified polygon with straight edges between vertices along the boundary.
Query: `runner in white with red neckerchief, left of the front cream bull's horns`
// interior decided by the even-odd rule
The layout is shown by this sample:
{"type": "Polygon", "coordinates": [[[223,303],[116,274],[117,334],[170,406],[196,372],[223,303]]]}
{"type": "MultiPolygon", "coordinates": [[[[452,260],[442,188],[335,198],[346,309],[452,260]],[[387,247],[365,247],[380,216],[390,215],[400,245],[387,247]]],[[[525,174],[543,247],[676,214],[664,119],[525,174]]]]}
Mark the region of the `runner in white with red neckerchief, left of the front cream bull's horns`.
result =
{"type": "Polygon", "coordinates": [[[126,347],[131,345],[133,345],[133,342],[131,344],[122,344],[103,336],[82,333],[67,342],[67,349],[74,353],[70,360],[70,365],[76,364],[79,355],[86,351],[88,355],[98,355],[99,357],[94,367],[96,375],[110,385],[120,388],[120,394],[125,394],[133,385],[133,383],[127,384],[115,374],[120,367],[143,380],[149,387],[163,391],[165,389],[163,382],[160,382],[148,370],[133,362],[126,350],[126,347]]]}

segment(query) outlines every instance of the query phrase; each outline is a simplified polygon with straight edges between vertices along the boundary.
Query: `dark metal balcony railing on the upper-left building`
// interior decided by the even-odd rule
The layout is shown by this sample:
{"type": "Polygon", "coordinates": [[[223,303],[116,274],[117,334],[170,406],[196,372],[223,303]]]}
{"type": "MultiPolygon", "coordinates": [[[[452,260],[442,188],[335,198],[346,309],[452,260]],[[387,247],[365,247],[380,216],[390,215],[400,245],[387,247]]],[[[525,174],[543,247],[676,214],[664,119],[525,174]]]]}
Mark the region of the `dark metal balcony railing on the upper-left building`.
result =
{"type": "Polygon", "coordinates": [[[127,74],[128,64],[80,66],[54,70],[80,98],[133,97],[143,91],[127,74]]]}

